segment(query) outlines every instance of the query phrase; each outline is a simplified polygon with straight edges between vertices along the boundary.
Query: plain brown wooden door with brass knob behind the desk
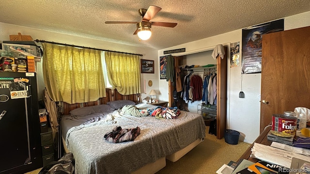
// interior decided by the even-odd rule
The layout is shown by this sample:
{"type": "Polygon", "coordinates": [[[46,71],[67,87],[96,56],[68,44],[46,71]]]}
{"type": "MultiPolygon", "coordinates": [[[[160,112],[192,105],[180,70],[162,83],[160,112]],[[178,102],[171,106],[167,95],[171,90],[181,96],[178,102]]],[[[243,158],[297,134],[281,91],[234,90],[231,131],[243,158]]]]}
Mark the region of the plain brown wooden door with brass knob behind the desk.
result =
{"type": "Polygon", "coordinates": [[[310,108],[310,27],[263,35],[260,132],[295,107],[310,108]]]}

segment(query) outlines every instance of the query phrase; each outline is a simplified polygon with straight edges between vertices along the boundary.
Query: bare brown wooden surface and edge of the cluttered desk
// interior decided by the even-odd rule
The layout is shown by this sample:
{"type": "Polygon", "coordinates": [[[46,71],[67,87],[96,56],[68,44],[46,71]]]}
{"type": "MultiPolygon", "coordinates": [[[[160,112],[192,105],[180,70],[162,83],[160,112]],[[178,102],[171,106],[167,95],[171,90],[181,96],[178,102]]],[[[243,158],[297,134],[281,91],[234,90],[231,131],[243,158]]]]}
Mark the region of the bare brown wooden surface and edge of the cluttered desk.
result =
{"type": "MultiPolygon", "coordinates": [[[[272,141],[267,140],[267,134],[268,132],[271,130],[271,126],[267,127],[258,137],[257,139],[254,141],[254,143],[259,143],[262,145],[271,145],[272,141]]],[[[248,150],[239,158],[238,162],[240,162],[243,159],[252,161],[252,162],[257,162],[258,159],[256,158],[251,158],[250,155],[252,153],[251,148],[253,147],[254,143],[248,147],[248,150]]],[[[237,162],[237,163],[238,163],[237,162]]]]}

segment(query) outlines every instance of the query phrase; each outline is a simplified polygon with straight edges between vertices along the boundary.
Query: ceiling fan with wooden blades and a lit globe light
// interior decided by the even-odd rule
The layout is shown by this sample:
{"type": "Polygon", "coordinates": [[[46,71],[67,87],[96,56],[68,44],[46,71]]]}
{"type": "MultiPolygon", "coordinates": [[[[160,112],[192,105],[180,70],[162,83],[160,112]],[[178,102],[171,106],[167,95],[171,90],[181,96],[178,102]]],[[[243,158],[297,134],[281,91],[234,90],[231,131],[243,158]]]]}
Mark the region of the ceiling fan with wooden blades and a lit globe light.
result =
{"type": "Polygon", "coordinates": [[[142,16],[141,22],[126,22],[126,21],[106,21],[106,24],[136,24],[137,29],[134,34],[138,34],[142,40],[148,40],[151,35],[152,25],[159,27],[175,27],[177,23],[171,22],[150,22],[150,20],[161,10],[160,7],[151,5],[148,9],[139,9],[138,12],[142,16]]]}

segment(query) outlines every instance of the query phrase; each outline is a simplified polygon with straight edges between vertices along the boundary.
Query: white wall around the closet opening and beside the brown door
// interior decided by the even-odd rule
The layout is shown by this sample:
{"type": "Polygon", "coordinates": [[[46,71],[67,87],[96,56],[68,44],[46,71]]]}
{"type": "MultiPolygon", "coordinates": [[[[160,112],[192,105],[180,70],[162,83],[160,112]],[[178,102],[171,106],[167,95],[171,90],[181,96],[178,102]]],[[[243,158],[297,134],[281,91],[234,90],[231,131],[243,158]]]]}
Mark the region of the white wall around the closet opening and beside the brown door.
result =
{"type": "MultiPolygon", "coordinates": [[[[310,26],[310,12],[284,18],[284,30],[306,26],[310,26]]],[[[190,51],[204,47],[211,47],[217,44],[235,42],[240,42],[240,44],[242,44],[242,29],[165,48],[159,50],[158,55],[163,56],[163,51],[166,50],[186,48],[186,51],[190,51]]],[[[240,50],[240,58],[241,57],[240,50]]],[[[203,63],[200,65],[202,64],[203,63]]],[[[241,140],[252,143],[260,132],[261,74],[243,75],[242,88],[245,93],[245,98],[239,98],[239,92],[241,89],[241,65],[239,65],[239,67],[229,68],[227,80],[227,129],[239,131],[241,133],[241,140]]],[[[161,96],[161,100],[168,101],[168,83],[166,80],[159,80],[159,90],[166,91],[165,95],[161,96]]]]}

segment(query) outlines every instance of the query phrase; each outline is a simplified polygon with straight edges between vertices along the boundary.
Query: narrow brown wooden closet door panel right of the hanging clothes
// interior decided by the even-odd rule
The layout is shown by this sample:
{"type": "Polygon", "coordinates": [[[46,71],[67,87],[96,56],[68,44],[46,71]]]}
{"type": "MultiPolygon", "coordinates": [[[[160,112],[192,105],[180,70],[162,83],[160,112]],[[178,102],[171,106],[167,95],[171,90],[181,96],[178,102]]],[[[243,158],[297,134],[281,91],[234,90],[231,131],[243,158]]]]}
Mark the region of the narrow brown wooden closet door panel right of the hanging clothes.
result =
{"type": "Polygon", "coordinates": [[[217,58],[217,139],[224,137],[227,116],[227,47],[225,55],[217,58]]]}

